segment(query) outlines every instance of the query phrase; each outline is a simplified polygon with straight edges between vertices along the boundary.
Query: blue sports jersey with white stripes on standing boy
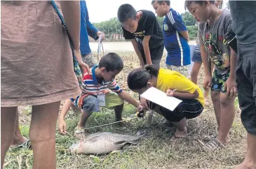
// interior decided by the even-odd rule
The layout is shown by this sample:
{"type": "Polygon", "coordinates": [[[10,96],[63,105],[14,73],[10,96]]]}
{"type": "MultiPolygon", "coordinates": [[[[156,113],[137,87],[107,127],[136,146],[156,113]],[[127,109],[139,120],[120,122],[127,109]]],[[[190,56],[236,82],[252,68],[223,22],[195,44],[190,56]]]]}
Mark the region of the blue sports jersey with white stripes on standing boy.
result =
{"type": "Polygon", "coordinates": [[[182,17],[173,8],[163,21],[164,45],[167,50],[166,64],[186,66],[191,63],[190,48],[180,31],[187,31],[182,17]]]}

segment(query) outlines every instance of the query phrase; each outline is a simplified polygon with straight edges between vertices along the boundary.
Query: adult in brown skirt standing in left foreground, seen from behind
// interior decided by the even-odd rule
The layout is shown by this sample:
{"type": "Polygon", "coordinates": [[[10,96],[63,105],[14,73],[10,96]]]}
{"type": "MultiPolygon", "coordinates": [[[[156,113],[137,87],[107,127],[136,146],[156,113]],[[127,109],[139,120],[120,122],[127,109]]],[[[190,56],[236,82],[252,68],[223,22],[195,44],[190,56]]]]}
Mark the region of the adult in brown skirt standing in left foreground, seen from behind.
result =
{"type": "Polygon", "coordinates": [[[55,10],[63,13],[76,59],[85,66],[79,50],[78,1],[1,1],[1,168],[15,134],[18,106],[25,105],[32,105],[33,168],[56,168],[60,101],[81,89],[67,31],[55,10]]]}

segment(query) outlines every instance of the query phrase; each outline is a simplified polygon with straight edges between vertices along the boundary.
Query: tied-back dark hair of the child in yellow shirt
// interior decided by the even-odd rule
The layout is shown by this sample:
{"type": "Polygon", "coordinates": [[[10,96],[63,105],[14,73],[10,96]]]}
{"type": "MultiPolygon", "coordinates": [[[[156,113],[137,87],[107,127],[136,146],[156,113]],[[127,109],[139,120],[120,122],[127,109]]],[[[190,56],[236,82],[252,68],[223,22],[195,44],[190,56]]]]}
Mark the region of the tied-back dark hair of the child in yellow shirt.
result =
{"type": "Polygon", "coordinates": [[[154,65],[146,65],[144,68],[135,68],[131,71],[127,78],[129,89],[142,89],[147,86],[147,82],[153,76],[159,75],[159,68],[154,65]]]}

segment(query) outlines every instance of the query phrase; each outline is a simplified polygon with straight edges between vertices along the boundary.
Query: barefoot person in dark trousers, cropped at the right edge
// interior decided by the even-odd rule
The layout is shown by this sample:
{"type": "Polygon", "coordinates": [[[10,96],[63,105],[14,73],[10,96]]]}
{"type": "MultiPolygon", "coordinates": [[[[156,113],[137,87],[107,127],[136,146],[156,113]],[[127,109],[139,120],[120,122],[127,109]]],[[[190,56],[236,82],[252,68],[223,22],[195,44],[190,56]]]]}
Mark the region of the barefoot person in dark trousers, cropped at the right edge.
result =
{"type": "Polygon", "coordinates": [[[256,1],[229,1],[236,33],[238,66],[236,82],[241,108],[241,121],[247,131],[248,149],[237,169],[256,168],[256,1]]]}

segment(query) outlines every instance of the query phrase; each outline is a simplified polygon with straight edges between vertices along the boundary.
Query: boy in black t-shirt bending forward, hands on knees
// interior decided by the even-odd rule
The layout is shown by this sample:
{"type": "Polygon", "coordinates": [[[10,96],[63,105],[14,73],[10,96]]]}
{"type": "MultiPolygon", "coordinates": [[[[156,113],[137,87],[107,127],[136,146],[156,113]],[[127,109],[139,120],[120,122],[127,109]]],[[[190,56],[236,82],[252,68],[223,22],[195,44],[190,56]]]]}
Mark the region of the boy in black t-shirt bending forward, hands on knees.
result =
{"type": "Polygon", "coordinates": [[[150,10],[136,11],[130,4],[123,4],[118,10],[123,36],[130,39],[140,59],[140,66],[154,64],[160,67],[163,55],[163,31],[150,10]]]}

